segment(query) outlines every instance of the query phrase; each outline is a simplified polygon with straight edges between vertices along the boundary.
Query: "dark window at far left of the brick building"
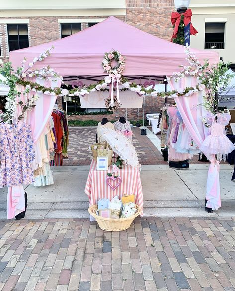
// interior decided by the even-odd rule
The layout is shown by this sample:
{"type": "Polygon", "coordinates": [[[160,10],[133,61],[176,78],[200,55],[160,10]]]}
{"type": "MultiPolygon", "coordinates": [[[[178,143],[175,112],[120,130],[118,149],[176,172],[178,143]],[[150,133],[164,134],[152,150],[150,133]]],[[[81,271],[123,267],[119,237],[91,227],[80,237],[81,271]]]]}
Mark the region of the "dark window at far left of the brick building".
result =
{"type": "Polygon", "coordinates": [[[29,47],[28,24],[7,24],[9,51],[29,47]]]}

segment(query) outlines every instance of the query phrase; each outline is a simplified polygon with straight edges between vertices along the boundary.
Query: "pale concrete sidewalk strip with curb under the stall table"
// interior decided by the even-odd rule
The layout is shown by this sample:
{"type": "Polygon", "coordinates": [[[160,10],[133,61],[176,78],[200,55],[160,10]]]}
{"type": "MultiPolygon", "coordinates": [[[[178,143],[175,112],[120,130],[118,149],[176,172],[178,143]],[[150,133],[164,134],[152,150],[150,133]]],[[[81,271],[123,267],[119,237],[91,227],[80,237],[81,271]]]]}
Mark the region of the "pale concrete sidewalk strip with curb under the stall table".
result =
{"type": "MultiPolygon", "coordinates": [[[[168,165],[143,165],[141,181],[145,216],[235,216],[233,166],[221,165],[222,208],[213,214],[204,211],[209,165],[190,165],[174,170],[168,165]]],[[[87,218],[88,197],[84,193],[89,166],[54,167],[54,185],[26,187],[27,218],[87,218]]],[[[0,219],[6,219],[7,189],[1,189],[0,219]]]]}

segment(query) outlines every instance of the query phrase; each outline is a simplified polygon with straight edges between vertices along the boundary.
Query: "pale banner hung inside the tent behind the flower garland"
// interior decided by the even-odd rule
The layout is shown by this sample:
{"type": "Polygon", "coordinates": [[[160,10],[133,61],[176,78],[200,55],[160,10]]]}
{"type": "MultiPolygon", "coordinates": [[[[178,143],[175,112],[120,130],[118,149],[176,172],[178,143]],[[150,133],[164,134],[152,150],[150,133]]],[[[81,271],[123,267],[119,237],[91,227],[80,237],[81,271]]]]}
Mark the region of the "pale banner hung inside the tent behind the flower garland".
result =
{"type": "MultiPolygon", "coordinates": [[[[109,91],[95,91],[90,94],[80,96],[81,108],[106,108],[105,99],[109,96],[109,91]]],[[[114,91],[115,96],[115,91],[114,91]]],[[[121,108],[141,108],[143,104],[143,95],[139,96],[134,91],[120,91],[121,108]]]]}

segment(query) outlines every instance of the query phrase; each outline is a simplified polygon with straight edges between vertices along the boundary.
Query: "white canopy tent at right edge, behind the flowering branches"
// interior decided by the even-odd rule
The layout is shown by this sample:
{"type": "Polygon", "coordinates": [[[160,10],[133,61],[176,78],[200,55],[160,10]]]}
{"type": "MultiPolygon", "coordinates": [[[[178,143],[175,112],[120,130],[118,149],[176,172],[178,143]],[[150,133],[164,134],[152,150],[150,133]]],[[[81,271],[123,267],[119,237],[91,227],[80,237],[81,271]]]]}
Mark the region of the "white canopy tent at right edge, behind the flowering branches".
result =
{"type": "Polygon", "coordinates": [[[226,90],[222,92],[221,96],[219,96],[219,106],[233,109],[235,108],[235,73],[231,69],[229,69],[227,73],[233,74],[234,77],[231,79],[226,90]]]}

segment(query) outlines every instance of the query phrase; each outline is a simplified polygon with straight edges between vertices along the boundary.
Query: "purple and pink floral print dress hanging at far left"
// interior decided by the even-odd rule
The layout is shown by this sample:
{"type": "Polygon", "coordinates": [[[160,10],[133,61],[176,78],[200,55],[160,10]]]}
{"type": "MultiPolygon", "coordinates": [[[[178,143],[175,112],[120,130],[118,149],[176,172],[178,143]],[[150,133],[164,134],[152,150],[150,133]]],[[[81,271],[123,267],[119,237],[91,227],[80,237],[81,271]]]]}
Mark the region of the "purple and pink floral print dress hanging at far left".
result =
{"type": "Polygon", "coordinates": [[[30,126],[0,124],[0,188],[32,183],[34,158],[30,126]]]}

